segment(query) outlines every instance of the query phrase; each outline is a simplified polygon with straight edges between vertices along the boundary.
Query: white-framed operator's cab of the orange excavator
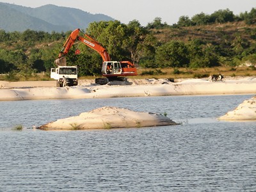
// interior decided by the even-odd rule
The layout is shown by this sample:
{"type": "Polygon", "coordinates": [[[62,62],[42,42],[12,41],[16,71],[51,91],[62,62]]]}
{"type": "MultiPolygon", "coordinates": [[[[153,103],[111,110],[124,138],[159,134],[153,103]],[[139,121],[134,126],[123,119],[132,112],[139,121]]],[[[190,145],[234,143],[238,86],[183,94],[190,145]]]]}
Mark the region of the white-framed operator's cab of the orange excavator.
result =
{"type": "Polygon", "coordinates": [[[118,61],[104,61],[101,72],[105,77],[120,75],[122,74],[121,64],[118,61]]]}

